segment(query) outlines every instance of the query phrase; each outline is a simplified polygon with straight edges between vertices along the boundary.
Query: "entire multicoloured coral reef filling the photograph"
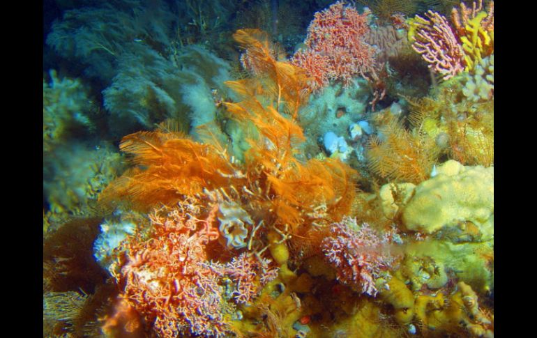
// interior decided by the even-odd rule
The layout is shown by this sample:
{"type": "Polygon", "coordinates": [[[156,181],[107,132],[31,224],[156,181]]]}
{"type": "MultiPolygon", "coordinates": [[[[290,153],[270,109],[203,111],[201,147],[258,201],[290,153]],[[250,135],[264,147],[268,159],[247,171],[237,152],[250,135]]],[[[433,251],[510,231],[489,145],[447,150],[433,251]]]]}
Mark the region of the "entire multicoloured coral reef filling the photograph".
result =
{"type": "Polygon", "coordinates": [[[357,2],[57,2],[44,336],[494,337],[494,1],[357,2]]]}

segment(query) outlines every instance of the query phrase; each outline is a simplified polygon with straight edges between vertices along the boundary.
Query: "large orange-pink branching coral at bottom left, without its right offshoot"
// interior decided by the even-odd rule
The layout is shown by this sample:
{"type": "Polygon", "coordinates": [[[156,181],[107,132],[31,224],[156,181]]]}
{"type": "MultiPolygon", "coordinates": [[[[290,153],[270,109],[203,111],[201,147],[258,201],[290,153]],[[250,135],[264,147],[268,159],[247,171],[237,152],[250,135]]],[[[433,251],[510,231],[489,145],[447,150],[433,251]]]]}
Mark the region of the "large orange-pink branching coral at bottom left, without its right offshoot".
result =
{"type": "Polygon", "coordinates": [[[157,210],[150,216],[149,238],[133,236],[124,244],[114,272],[121,298],[160,337],[222,337],[229,329],[219,275],[204,264],[206,245],[219,236],[217,210],[214,206],[204,219],[188,206],[157,210]]]}

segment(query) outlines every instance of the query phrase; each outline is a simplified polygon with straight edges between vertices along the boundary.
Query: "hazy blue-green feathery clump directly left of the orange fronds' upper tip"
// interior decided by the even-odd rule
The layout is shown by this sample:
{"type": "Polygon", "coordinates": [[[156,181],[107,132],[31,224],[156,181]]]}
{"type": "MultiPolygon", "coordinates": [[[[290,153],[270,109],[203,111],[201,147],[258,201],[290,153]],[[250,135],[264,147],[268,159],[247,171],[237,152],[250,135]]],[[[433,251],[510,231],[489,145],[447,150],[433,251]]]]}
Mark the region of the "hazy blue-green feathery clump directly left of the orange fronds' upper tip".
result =
{"type": "Polygon", "coordinates": [[[209,125],[216,134],[212,91],[225,96],[228,79],[227,63],[202,47],[185,47],[167,59],[140,45],[121,56],[118,74],[103,91],[111,128],[123,135],[173,118],[183,131],[195,135],[195,128],[209,125]]]}

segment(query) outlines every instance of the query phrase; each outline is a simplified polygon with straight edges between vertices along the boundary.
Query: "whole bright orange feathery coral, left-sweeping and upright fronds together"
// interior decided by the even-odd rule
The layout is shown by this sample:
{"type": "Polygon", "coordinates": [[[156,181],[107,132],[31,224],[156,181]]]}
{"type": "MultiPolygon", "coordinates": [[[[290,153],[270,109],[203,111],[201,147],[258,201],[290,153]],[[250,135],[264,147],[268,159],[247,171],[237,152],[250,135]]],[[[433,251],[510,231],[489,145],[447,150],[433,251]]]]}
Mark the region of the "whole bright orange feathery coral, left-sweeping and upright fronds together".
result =
{"type": "Polygon", "coordinates": [[[305,75],[275,61],[250,33],[238,31],[235,37],[253,51],[250,62],[258,65],[259,75],[227,82],[241,101],[225,103],[229,117],[250,130],[244,163],[232,160],[215,140],[200,144],[176,132],[137,132],[121,142],[137,167],[108,187],[102,200],[130,199],[139,209],[172,206],[188,197],[201,205],[232,203],[251,217],[243,231],[248,249],[252,243],[259,249],[259,241],[266,245],[262,234],[267,229],[283,231],[285,240],[349,213],[356,171],[339,160],[298,157],[305,137],[294,116],[308,97],[305,75]]]}

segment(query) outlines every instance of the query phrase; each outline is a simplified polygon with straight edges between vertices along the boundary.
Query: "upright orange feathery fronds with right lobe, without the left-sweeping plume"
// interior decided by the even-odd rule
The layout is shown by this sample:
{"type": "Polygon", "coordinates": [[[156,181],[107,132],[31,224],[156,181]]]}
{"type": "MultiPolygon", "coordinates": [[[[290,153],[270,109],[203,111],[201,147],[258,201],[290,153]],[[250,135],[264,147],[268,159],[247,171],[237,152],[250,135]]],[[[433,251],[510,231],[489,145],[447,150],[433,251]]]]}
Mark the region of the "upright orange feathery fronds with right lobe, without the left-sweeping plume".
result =
{"type": "Polygon", "coordinates": [[[277,223],[293,229],[299,224],[309,225],[305,222],[308,214],[319,206],[330,208],[334,213],[328,214],[338,219],[349,211],[356,171],[338,160],[303,163],[295,158],[305,138],[294,113],[308,98],[307,78],[300,68],[275,61],[266,44],[255,40],[255,33],[258,31],[239,30],[234,38],[248,52],[253,51],[250,58],[259,64],[256,68],[261,78],[227,82],[242,100],[225,103],[232,118],[255,125],[258,130],[258,135],[248,140],[250,149],[245,154],[245,173],[250,182],[256,182],[249,190],[261,191],[262,205],[273,210],[277,223]],[[259,93],[268,100],[262,101],[259,93]],[[280,103],[291,112],[291,118],[278,112],[280,103]]]}

